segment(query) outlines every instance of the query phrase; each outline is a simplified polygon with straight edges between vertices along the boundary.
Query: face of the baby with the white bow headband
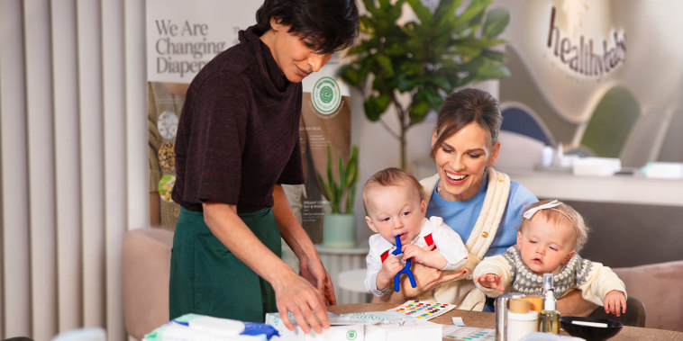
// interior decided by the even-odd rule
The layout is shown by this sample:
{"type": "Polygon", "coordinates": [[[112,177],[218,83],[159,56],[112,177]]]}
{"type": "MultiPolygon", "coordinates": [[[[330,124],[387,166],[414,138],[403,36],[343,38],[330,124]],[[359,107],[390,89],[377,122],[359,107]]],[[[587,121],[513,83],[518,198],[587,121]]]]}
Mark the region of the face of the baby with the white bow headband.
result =
{"type": "Polygon", "coordinates": [[[542,211],[525,220],[517,232],[517,247],[524,265],[536,274],[549,274],[574,256],[577,235],[569,220],[551,224],[542,211]]]}

